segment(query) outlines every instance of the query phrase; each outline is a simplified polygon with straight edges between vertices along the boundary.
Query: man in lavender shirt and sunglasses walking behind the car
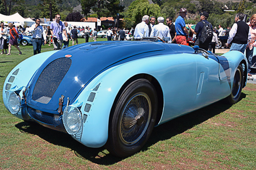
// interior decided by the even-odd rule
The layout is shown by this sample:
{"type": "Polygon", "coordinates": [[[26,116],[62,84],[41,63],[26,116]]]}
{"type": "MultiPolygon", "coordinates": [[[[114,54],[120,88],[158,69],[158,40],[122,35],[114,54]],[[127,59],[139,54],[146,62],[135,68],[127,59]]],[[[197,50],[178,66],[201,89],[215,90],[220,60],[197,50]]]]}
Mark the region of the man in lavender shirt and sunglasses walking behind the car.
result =
{"type": "Polygon", "coordinates": [[[68,36],[66,34],[65,25],[60,21],[60,14],[55,15],[55,21],[51,23],[50,29],[53,39],[53,50],[61,49],[63,43],[62,32],[66,37],[66,41],[68,41],[68,36]]]}

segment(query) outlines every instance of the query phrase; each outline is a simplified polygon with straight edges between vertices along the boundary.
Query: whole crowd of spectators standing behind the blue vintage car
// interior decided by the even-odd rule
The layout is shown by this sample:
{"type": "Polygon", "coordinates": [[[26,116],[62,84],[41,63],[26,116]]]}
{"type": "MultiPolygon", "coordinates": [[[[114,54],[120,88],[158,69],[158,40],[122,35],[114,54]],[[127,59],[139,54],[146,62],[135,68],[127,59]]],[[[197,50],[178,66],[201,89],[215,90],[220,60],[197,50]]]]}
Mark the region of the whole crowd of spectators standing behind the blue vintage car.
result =
{"type": "MultiPolygon", "coordinates": [[[[221,25],[218,25],[213,28],[211,23],[207,21],[209,14],[207,11],[200,13],[200,21],[192,28],[192,25],[189,24],[188,27],[185,24],[184,18],[187,15],[186,8],[181,8],[179,11],[179,16],[173,23],[173,18],[165,18],[162,16],[157,18],[148,15],[143,16],[141,23],[138,23],[135,29],[131,28],[130,30],[125,28],[108,28],[106,31],[106,36],[108,41],[124,41],[127,40],[126,34],[132,35],[132,39],[135,41],[141,41],[143,37],[158,37],[160,39],[167,38],[168,43],[177,43],[188,45],[188,37],[192,37],[194,40],[194,45],[198,45],[200,48],[205,50],[213,50],[215,52],[215,46],[218,43],[219,36],[227,36],[228,40],[226,46],[230,46],[230,50],[238,50],[244,53],[246,50],[246,57],[248,59],[248,75],[250,74],[250,66],[253,55],[253,47],[256,46],[256,14],[249,18],[248,23],[243,22],[244,14],[238,13],[235,16],[235,23],[230,28],[223,28],[221,25]],[[209,27],[207,29],[211,34],[210,40],[203,41],[204,29],[206,25],[209,27]]],[[[0,49],[2,52],[0,54],[10,55],[11,46],[15,46],[19,54],[22,54],[20,48],[18,47],[17,39],[22,37],[22,35],[33,34],[33,50],[34,54],[41,52],[42,44],[45,45],[48,42],[48,46],[53,44],[54,50],[63,49],[68,47],[69,40],[72,39],[72,46],[78,44],[78,33],[83,32],[85,43],[88,43],[89,38],[96,41],[97,39],[97,30],[90,28],[89,26],[76,27],[68,26],[66,22],[61,21],[59,14],[55,16],[55,21],[51,23],[50,26],[41,26],[40,20],[36,19],[35,24],[31,27],[23,28],[22,26],[14,26],[12,23],[9,23],[9,32],[10,40],[9,45],[7,46],[7,28],[4,27],[4,23],[1,22],[0,29],[0,49]],[[63,44],[63,45],[62,45],[63,44]],[[8,53],[7,53],[8,49],[8,53]]],[[[205,39],[205,38],[204,38],[205,39]]]]}

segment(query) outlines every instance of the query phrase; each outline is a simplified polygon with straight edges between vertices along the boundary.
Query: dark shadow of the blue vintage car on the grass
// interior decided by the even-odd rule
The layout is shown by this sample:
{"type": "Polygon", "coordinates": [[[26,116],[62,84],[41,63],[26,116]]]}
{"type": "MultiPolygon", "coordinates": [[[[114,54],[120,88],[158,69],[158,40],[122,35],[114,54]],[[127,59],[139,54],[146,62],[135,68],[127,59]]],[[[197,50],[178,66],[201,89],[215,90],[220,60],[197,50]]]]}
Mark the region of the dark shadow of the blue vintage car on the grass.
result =
{"type": "MultiPolygon", "coordinates": [[[[240,100],[245,98],[246,94],[242,93],[240,100]]],[[[150,139],[142,148],[142,152],[149,149],[151,145],[163,140],[170,139],[177,134],[181,134],[197,124],[228,110],[232,105],[227,105],[223,100],[213,103],[212,105],[193,111],[189,114],[175,118],[167,123],[155,127],[150,139]]],[[[68,147],[74,151],[74,154],[85,160],[89,160],[99,165],[113,165],[120,162],[121,158],[114,157],[104,148],[89,148],[80,142],[75,141],[70,135],[63,132],[54,131],[47,127],[40,126],[36,123],[21,122],[15,125],[23,133],[33,134],[41,137],[51,144],[68,147]]]]}

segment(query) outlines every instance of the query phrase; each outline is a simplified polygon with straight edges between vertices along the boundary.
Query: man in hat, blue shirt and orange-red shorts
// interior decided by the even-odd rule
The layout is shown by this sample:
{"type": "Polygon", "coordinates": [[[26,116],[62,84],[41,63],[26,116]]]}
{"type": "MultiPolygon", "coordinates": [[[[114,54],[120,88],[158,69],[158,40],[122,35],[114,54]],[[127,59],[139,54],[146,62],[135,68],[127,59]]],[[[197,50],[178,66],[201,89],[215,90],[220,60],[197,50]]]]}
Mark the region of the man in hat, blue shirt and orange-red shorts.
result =
{"type": "Polygon", "coordinates": [[[187,45],[186,35],[188,34],[188,29],[186,28],[184,18],[187,15],[187,9],[181,8],[180,15],[175,20],[175,30],[176,30],[176,43],[187,45]]]}

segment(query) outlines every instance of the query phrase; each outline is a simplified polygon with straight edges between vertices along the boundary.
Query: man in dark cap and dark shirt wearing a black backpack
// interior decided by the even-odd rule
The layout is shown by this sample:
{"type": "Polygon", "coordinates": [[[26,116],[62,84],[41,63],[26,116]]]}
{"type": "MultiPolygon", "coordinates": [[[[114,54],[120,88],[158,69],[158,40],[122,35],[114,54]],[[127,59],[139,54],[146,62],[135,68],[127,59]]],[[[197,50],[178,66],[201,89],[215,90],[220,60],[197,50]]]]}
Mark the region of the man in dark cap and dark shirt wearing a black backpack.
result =
{"type": "Polygon", "coordinates": [[[196,24],[196,27],[191,28],[191,24],[188,25],[188,28],[193,34],[196,34],[196,41],[194,45],[198,45],[200,48],[208,50],[209,44],[213,39],[213,26],[207,21],[209,17],[208,12],[204,11],[200,13],[200,22],[196,24]]]}

